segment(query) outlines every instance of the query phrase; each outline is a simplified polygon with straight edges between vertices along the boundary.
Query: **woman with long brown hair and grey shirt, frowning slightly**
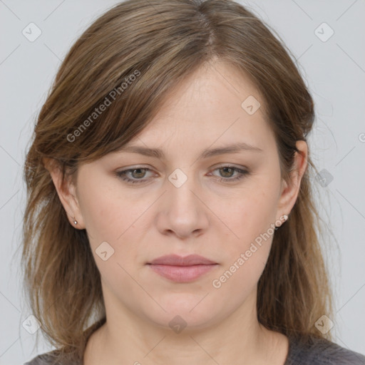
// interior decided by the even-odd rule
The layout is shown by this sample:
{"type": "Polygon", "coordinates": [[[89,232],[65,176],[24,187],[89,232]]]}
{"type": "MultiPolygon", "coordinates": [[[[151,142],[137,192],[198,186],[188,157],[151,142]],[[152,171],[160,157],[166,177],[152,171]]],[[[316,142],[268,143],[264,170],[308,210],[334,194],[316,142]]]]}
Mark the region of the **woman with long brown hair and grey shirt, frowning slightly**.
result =
{"type": "Polygon", "coordinates": [[[27,364],[365,364],[332,342],[282,43],[228,0],[130,0],[72,46],[25,178],[27,364]],[[346,362],[347,361],[347,362],[346,362]]]}

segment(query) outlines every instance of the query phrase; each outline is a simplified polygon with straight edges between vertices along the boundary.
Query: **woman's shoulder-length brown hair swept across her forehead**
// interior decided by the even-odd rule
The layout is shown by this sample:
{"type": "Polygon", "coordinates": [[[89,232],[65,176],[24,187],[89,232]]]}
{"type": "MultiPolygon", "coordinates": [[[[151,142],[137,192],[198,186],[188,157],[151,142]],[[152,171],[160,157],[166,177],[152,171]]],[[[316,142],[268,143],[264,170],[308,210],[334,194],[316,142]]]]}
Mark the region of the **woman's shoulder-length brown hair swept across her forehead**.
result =
{"type": "MultiPolygon", "coordinates": [[[[45,159],[77,181],[78,166],[128,143],[184,78],[215,60],[235,66],[261,93],[274,131],[282,179],[289,181],[297,140],[307,141],[314,102],[291,53],[258,16],[230,0],[128,0],[108,9],[66,54],[26,153],[22,237],[26,297],[59,356],[83,359],[89,336],[106,322],[101,277],[86,230],[68,221],[45,159]],[[106,108],[103,113],[96,108],[106,108]]],[[[319,213],[308,155],[289,220],[274,234],[257,286],[257,319],[307,341],[332,339],[315,326],[332,317],[319,244],[319,213]]]]}

